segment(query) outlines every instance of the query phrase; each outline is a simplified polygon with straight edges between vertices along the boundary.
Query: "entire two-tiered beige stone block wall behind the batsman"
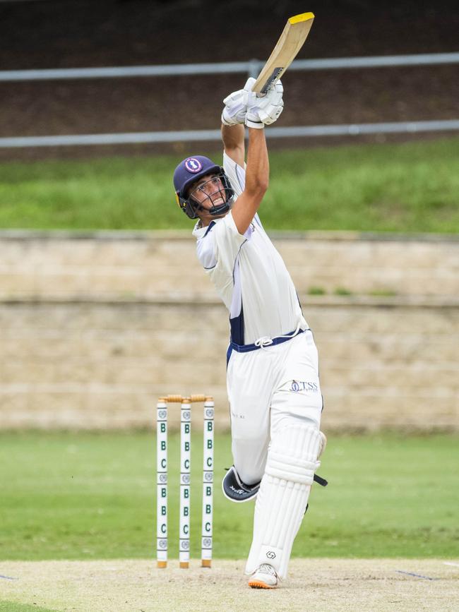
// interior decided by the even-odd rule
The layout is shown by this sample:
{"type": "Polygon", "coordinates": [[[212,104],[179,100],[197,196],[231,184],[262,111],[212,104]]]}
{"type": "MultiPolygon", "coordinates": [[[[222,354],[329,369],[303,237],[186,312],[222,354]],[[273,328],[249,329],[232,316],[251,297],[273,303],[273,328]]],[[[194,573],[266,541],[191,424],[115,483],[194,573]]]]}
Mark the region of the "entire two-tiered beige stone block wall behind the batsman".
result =
{"type": "MultiPolygon", "coordinates": [[[[457,430],[459,241],[277,243],[321,356],[323,427],[457,430]]],[[[0,262],[2,428],[150,426],[169,392],[212,393],[228,425],[227,314],[189,237],[4,233],[0,262]]]]}

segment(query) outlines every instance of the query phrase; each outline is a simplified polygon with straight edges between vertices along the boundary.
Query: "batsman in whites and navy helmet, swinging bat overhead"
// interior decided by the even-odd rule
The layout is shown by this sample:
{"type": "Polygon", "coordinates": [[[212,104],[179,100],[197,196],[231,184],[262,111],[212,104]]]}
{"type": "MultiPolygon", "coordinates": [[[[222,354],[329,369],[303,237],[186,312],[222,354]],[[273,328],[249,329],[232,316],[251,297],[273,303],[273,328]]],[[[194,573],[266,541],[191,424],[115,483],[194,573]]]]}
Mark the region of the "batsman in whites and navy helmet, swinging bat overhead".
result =
{"type": "Polygon", "coordinates": [[[235,502],[256,498],[246,574],[249,587],[273,589],[287,576],[326,438],[314,338],[258,217],[269,179],[264,128],[282,112],[283,88],[278,81],[260,97],[254,81],[223,101],[222,167],[187,157],[175,169],[174,188],[181,210],[197,220],[198,259],[229,313],[234,464],[222,488],[235,502]]]}

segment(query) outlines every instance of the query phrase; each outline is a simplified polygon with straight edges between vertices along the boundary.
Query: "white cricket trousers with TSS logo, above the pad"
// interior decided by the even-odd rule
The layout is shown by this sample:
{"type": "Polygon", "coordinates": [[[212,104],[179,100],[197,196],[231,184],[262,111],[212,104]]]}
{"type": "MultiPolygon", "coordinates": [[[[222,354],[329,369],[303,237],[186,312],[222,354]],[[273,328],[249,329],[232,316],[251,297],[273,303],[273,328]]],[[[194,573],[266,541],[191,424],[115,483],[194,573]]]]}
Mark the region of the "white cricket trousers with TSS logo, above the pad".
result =
{"type": "Polygon", "coordinates": [[[227,392],[234,467],[245,484],[261,481],[270,439],[295,424],[320,428],[323,400],[311,330],[282,344],[229,355],[227,392]]]}

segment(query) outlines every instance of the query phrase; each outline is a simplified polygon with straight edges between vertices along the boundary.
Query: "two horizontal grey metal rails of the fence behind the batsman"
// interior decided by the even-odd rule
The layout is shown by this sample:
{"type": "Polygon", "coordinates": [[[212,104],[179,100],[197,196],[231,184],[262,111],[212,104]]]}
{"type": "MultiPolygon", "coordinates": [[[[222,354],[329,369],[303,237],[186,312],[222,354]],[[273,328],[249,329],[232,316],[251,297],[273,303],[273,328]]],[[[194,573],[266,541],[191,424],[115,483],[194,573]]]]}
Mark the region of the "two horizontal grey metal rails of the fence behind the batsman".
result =
{"type": "MultiPolygon", "coordinates": [[[[289,70],[335,70],[347,68],[381,68],[395,66],[430,66],[459,63],[459,53],[436,53],[398,56],[369,56],[296,60],[289,70]]],[[[61,80],[84,78],[133,78],[147,76],[190,76],[215,73],[248,73],[257,76],[264,62],[220,62],[215,64],[170,64],[165,66],[116,66],[109,68],[58,68],[52,70],[0,71],[0,82],[25,80],[61,80]]],[[[357,136],[376,133],[419,133],[459,130],[459,119],[444,121],[400,121],[376,124],[273,127],[269,138],[311,136],[357,136]]],[[[56,147],[81,145],[114,145],[129,143],[173,143],[220,140],[219,130],[156,131],[131,133],[76,134],[65,136],[18,136],[0,138],[0,148],[56,147]]]]}

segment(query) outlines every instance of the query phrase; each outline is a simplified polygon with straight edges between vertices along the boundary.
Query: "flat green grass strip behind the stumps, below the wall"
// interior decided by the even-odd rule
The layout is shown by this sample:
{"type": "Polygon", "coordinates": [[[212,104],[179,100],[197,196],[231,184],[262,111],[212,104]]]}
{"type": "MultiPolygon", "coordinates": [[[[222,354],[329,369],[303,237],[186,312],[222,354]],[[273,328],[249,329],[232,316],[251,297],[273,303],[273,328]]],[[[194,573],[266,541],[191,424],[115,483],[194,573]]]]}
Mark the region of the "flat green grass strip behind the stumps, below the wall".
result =
{"type": "MultiPolygon", "coordinates": [[[[220,490],[230,440],[216,437],[215,557],[244,558],[253,505],[220,490]]],[[[201,438],[193,438],[192,556],[201,521],[201,438]],[[198,484],[199,483],[199,484],[198,484]]],[[[170,556],[177,557],[178,440],[169,445],[170,556]]],[[[457,556],[457,436],[330,436],[294,556],[457,556]]],[[[1,433],[0,559],[155,556],[150,433],[1,433]]],[[[1,572],[0,572],[1,573],[1,572]]]]}

